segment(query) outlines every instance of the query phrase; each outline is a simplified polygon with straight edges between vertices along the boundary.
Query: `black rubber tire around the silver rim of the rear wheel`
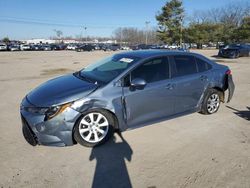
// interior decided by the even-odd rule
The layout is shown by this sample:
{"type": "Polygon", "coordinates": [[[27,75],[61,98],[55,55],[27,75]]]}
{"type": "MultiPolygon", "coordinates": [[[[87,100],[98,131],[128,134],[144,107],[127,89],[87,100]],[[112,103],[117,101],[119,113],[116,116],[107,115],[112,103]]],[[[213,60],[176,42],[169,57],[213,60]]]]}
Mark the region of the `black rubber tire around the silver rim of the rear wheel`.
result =
{"type": "Polygon", "coordinates": [[[210,114],[216,113],[220,108],[220,96],[221,96],[220,91],[218,91],[216,89],[208,89],[208,91],[203,99],[200,113],[205,114],[205,115],[210,115],[210,114]],[[209,105],[208,103],[209,103],[209,99],[210,99],[210,97],[212,97],[212,95],[218,95],[219,103],[218,103],[218,107],[214,111],[211,112],[208,108],[208,105],[209,105]]]}

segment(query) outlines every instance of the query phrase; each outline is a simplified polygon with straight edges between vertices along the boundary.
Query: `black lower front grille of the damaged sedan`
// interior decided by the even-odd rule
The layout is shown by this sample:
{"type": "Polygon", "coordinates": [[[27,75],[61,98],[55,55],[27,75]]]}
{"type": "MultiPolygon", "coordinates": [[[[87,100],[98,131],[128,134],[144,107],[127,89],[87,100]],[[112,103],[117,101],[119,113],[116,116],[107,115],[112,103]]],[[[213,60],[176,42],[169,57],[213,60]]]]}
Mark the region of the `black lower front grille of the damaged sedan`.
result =
{"type": "Polygon", "coordinates": [[[23,116],[22,117],[22,124],[23,124],[23,136],[25,138],[25,140],[32,146],[36,146],[37,145],[37,137],[35,135],[35,133],[32,131],[32,129],[30,128],[29,124],[27,123],[27,121],[25,120],[25,118],[23,116]]]}

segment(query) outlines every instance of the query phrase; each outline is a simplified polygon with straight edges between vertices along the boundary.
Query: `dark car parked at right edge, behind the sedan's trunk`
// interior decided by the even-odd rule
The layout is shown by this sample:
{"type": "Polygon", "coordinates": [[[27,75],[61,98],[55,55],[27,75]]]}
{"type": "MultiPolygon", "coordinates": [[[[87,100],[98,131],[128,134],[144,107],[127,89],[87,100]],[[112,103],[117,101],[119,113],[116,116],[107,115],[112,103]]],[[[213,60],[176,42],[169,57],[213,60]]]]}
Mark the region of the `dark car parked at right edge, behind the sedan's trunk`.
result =
{"type": "Polygon", "coordinates": [[[218,52],[220,57],[238,58],[250,56],[250,45],[247,44],[229,44],[221,47],[218,52]]]}

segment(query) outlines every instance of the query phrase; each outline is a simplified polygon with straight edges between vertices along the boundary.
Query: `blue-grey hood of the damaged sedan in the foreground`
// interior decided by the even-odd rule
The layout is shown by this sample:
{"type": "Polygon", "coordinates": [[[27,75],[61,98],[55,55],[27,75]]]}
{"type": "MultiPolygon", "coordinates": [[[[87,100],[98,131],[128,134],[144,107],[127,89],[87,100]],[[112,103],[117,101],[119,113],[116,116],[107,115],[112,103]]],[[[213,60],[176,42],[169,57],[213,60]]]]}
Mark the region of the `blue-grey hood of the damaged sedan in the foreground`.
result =
{"type": "Polygon", "coordinates": [[[97,87],[70,74],[43,83],[31,91],[27,99],[35,106],[49,107],[83,98],[97,87]]]}

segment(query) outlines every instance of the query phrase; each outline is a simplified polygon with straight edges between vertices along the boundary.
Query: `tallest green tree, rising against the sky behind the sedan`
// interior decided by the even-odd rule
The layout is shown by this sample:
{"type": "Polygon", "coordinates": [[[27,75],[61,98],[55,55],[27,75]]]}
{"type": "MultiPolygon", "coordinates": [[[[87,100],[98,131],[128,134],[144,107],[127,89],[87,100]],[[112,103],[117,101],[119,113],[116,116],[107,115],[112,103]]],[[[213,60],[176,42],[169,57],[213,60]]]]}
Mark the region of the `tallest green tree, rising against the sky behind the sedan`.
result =
{"type": "Polygon", "coordinates": [[[184,8],[181,0],[171,0],[156,15],[158,21],[157,36],[165,43],[180,43],[182,38],[182,20],[184,8]]]}

